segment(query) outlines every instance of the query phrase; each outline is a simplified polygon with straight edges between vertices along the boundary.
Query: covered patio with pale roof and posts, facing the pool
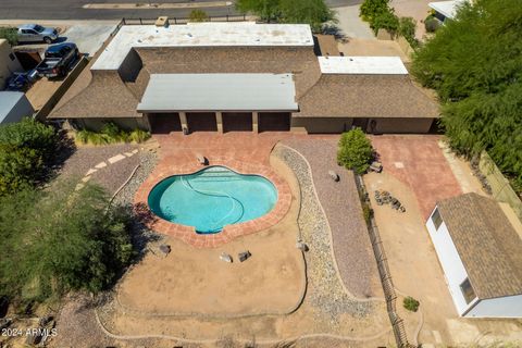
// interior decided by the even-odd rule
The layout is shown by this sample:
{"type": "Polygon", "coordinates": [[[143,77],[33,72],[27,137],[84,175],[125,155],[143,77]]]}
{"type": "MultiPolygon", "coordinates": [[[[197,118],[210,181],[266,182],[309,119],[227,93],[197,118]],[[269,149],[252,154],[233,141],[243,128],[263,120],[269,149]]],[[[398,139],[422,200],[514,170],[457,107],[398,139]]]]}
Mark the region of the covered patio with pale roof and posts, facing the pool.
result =
{"type": "Polygon", "coordinates": [[[291,74],[152,74],[137,108],[153,129],[188,132],[289,130],[297,110],[291,74]]]}

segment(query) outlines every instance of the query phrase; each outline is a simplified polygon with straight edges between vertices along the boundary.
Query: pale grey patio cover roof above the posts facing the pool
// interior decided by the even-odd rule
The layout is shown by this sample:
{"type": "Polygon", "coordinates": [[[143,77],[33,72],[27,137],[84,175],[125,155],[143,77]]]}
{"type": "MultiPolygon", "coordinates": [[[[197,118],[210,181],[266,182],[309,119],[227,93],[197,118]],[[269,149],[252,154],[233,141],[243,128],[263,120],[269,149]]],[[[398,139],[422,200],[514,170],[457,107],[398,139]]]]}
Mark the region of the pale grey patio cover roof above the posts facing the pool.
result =
{"type": "Polygon", "coordinates": [[[152,74],[138,112],[297,111],[291,74],[152,74]]]}

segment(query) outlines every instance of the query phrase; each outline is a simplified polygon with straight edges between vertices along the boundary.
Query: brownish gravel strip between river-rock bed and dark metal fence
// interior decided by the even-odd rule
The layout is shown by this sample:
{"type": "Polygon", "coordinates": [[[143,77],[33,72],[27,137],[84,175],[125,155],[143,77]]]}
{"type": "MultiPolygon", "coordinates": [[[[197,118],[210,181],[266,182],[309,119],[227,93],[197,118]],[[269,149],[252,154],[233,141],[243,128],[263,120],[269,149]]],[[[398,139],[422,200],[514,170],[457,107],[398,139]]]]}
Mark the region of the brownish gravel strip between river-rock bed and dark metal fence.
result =
{"type": "MultiPolygon", "coordinates": [[[[357,298],[383,297],[353,174],[337,165],[336,144],[322,139],[290,139],[284,144],[301,153],[311,166],[313,185],[327,216],[335,259],[346,288],[357,298]],[[328,170],[340,176],[339,183],[332,181],[328,170]]],[[[301,187],[312,188],[313,185],[301,187]]],[[[330,245],[327,233],[323,235],[330,245]]],[[[331,252],[330,246],[327,251],[331,252]]]]}

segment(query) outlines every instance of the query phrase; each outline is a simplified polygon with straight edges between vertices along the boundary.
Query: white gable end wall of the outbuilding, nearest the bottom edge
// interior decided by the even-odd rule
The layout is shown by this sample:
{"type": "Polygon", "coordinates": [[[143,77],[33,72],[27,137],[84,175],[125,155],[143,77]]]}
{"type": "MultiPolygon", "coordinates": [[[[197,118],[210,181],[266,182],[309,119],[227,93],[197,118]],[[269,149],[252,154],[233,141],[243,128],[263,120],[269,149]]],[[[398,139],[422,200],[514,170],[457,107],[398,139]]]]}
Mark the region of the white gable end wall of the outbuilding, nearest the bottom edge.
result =
{"type": "Polygon", "coordinates": [[[522,318],[522,295],[481,300],[465,316],[522,318]]]}

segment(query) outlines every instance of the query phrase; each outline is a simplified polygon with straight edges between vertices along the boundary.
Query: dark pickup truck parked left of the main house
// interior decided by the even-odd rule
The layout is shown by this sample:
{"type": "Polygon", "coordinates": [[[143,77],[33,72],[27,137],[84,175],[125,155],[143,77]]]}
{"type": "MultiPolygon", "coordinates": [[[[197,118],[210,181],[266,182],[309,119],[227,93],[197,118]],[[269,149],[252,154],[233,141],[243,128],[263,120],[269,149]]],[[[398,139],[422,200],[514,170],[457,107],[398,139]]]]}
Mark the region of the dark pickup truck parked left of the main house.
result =
{"type": "Polygon", "coordinates": [[[36,66],[38,76],[63,77],[70,67],[79,59],[75,44],[64,42],[49,46],[44,60],[36,66]]]}

